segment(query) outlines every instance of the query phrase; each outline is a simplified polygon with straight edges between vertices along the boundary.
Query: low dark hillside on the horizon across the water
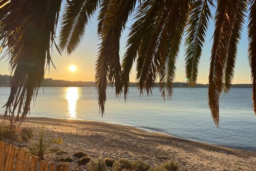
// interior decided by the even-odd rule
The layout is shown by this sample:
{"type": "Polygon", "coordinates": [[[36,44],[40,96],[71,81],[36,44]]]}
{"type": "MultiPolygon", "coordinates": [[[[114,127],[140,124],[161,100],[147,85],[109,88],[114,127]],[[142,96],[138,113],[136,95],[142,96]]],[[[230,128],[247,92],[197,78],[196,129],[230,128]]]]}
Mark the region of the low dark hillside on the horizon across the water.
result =
{"type": "MultiPolygon", "coordinates": [[[[10,76],[0,75],[0,87],[9,87],[10,76]]],[[[65,80],[53,80],[53,79],[44,79],[44,87],[94,87],[94,82],[84,82],[84,81],[65,81],[65,80]]],[[[130,87],[137,87],[136,83],[130,83],[130,87]]],[[[156,83],[156,87],[159,87],[159,84],[156,83]]],[[[176,82],[174,87],[187,88],[187,83],[176,82]]],[[[197,84],[196,88],[207,88],[208,84],[197,84]]],[[[233,88],[251,88],[251,84],[233,84],[233,88]]]]}

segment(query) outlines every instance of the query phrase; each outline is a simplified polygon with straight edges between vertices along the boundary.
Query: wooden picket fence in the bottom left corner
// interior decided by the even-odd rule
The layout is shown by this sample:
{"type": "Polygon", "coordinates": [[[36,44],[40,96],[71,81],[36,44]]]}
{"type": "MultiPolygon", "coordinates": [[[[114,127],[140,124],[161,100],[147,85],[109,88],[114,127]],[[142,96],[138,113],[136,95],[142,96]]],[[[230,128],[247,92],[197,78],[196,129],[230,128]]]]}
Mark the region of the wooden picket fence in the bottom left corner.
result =
{"type": "Polygon", "coordinates": [[[0,141],[0,171],[68,171],[69,163],[49,163],[38,161],[38,157],[31,156],[27,149],[17,148],[12,144],[0,141]],[[39,162],[39,167],[38,167],[39,162]],[[55,168],[55,169],[54,169],[55,168]]]}

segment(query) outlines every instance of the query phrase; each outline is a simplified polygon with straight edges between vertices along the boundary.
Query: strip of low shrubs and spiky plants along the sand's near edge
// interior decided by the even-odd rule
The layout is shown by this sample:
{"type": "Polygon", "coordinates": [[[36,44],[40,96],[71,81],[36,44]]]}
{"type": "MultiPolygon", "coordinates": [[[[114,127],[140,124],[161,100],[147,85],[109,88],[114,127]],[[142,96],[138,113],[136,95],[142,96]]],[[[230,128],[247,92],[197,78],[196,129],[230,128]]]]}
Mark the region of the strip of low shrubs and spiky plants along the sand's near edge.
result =
{"type": "Polygon", "coordinates": [[[13,128],[4,125],[0,127],[0,140],[27,148],[28,152],[31,155],[38,156],[39,160],[45,160],[45,155],[47,154],[55,155],[58,156],[58,159],[49,162],[69,162],[71,167],[77,164],[79,168],[89,171],[175,171],[178,169],[178,164],[175,161],[166,161],[153,167],[141,160],[114,160],[109,157],[104,159],[102,157],[94,158],[81,151],[74,152],[70,156],[68,152],[54,148],[54,142],[59,142],[59,139],[53,139],[44,126],[35,131],[28,128],[13,128]]]}

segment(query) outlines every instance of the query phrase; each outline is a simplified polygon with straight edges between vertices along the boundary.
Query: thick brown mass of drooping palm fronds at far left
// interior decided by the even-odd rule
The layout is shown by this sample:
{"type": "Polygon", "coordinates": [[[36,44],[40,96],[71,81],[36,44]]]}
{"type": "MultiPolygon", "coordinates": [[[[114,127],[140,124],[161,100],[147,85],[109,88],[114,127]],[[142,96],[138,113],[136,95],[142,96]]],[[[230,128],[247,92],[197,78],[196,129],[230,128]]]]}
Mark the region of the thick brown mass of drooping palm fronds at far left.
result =
{"type": "Polygon", "coordinates": [[[60,6],[61,0],[10,1],[8,13],[0,18],[0,40],[8,47],[6,54],[13,73],[4,114],[11,124],[22,123],[44,78],[60,6]]]}

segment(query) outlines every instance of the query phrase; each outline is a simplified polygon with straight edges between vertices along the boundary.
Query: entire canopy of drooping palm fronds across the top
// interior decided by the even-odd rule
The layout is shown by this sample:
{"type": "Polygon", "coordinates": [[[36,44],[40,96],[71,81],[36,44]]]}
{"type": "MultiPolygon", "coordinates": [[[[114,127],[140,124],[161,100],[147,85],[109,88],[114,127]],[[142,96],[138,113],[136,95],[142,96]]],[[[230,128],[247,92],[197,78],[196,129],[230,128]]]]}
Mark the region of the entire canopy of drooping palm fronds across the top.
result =
{"type": "Polygon", "coordinates": [[[75,51],[97,9],[100,44],[95,85],[101,114],[104,113],[108,83],[115,86],[116,96],[123,92],[126,99],[134,63],[140,93],[152,93],[152,88],[159,81],[163,98],[170,99],[183,36],[187,83],[194,87],[209,19],[214,17],[208,103],[212,118],[219,126],[219,98],[222,91],[227,93],[231,87],[247,12],[248,59],[256,113],[254,0],[73,0],[63,6],[59,44],[56,45],[55,31],[61,0],[0,0],[0,51],[5,49],[4,55],[9,59],[13,74],[5,112],[11,123],[23,121],[29,112],[30,102],[44,78],[45,67],[51,62],[50,48],[53,44],[59,53],[75,51]],[[211,13],[211,8],[216,8],[215,14],[211,13]],[[134,22],[120,62],[120,37],[129,18],[134,22]],[[31,48],[32,45],[35,48],[31,48]],[[16,110],[17,116],[14,117],[16,110]]]}

